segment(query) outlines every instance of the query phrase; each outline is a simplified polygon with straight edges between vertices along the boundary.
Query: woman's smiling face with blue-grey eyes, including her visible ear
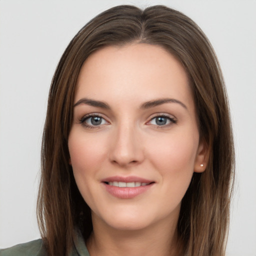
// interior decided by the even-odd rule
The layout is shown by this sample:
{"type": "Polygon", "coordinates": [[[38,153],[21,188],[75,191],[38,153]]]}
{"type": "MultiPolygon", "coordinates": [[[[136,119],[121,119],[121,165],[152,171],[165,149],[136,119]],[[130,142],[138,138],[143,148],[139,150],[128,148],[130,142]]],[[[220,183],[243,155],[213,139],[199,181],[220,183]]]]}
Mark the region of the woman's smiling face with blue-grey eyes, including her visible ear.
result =
{"type": "Polygon", "coordinates": [[[205,151],[182,65],[143,43],[91,54],[77,80],[68,148],[94,221],[118,229],[177,221],[205,151]]]}

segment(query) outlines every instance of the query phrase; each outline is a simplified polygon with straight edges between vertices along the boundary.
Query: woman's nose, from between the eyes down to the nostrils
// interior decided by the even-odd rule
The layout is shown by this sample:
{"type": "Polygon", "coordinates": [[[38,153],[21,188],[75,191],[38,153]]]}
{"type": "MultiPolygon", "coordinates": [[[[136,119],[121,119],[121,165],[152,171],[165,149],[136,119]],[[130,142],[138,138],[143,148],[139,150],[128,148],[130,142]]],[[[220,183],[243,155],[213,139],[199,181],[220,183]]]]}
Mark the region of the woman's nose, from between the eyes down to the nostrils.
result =
{"type": "Polygon", "coordinates": [[[138,164],[144,159],[143,143],[138,128],[120,125],[113,130],[109,160],[122,167],[138,164]]]}

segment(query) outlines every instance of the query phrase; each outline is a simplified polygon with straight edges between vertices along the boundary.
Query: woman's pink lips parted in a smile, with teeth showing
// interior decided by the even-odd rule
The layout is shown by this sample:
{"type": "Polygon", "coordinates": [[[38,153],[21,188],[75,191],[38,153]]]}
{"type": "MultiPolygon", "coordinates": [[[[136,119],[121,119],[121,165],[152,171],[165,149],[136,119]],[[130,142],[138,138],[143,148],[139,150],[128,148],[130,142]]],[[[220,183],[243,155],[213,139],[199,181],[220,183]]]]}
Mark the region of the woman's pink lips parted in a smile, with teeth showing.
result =
{"type": "Polygon", "coordinates": [[[112,176],[103,179],[101,182],[108,193],[123,199],[143,194],[155,183],[152,180],[136,176],[112,176]]]}

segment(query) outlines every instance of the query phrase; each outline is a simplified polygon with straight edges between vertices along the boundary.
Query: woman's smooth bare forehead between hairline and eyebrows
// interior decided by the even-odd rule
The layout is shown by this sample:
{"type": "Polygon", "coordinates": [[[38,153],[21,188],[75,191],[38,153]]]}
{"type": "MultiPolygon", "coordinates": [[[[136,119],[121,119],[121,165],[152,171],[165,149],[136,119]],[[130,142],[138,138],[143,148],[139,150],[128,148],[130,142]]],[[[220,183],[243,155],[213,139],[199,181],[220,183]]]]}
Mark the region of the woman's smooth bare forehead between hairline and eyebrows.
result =
{"type": "Polygon", "coordinates": [[[75,100],[85,96],[100,100],[123,96],[131,101],[166,96],[192,100],[181,63],[161,46],[145,43],[107,46],[92,53],[84,61],[76,84],[75,100]]]}

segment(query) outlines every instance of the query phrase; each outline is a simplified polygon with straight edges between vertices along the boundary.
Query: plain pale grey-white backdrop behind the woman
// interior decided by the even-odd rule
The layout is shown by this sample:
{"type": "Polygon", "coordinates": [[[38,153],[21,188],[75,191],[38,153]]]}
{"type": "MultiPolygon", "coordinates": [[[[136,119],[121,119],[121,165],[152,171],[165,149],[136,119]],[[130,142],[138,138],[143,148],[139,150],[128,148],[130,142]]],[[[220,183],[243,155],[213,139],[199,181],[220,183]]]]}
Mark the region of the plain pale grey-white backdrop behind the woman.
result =
{"type": "Polygon", "coordinates": [[[0,247],[39,237],[35,202],[47,93],[75,33],[118,4],[164,4],[210,39],[226,81],[236,147],[227,255],[256,255],[255,0],[0,0],[0,247]]]}

